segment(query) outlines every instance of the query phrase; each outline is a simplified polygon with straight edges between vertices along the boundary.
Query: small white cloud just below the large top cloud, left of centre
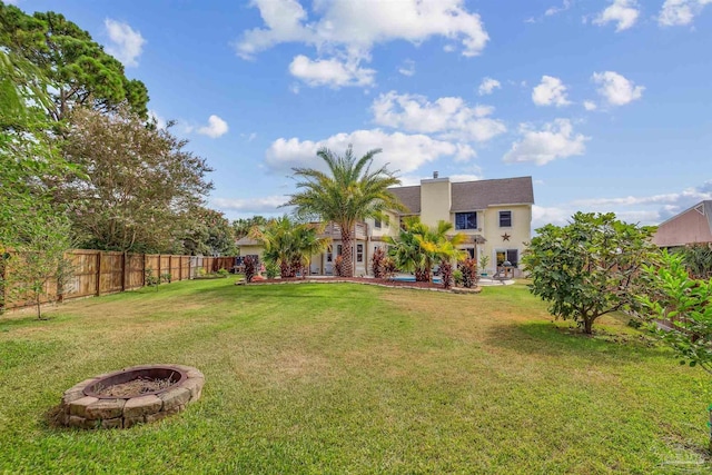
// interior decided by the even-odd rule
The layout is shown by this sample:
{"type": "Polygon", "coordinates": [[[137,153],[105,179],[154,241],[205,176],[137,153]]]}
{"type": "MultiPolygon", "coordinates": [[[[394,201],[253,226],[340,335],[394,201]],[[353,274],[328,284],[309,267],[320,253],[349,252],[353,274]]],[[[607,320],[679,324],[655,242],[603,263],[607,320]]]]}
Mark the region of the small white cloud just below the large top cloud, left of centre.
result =
{"type": "Polygon", "coordinates": [[[297,56],[289,65],[291,76],[301,79],[309,86],[330,86],[334,88],[345,86],[373,86],[373,69],[358,67],[358,61],[337,59],[310,60],[306,56],[297,56]]]}

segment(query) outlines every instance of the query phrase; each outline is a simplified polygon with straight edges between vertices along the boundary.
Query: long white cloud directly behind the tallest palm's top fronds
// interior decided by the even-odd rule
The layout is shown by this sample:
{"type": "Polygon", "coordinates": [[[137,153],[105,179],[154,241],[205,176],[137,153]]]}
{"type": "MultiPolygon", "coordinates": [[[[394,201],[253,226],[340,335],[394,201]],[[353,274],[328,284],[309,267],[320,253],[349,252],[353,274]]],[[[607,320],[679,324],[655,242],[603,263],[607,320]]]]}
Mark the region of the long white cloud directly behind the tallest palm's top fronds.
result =
{"type": "Polygon", "coordinates": [[[275,172],[287,171],[293,167],[320,168],[324,164],[316,156],[319,148],[327,147],[336,154],[343,154],[349,144],[354,145],[354,152],[358,156],[370,149],[382,148],[383,152],[376,155],[374,162],[378,166],[389,164],[390,170],[403,174],[443,157],[464,161],[476,155],[469,146],[463,144],[435,140],[424,135],[387,133],[373,129],[337,133],[319,141],[280,138],[267,149],[265,164],[275,172]]]}

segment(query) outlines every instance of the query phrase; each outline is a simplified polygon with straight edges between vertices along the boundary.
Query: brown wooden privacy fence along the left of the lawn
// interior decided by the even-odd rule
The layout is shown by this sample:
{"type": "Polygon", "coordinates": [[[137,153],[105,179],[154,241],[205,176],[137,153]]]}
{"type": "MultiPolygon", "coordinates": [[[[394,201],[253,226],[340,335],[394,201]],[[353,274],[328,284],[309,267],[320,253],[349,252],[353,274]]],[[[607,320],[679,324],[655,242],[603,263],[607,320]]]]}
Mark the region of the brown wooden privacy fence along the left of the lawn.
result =
{"type": "MultiPolygon", "coordinates": [[[[70,250],[66,257],[71,263],[71,277],[65,284],[63,289],[58,289],[57,281],[50,279],[44,287],[43,303],[141,288],[147,285],[149,276],[160,279],[161,283],[170,283],[191,279],[202,273],[216,273],[219,269],[230,270],[235,266],[235,257],[131,254],[85,249],[70,250]]],[[[12,268],[9,266],[3,269],[3,277],[11,281],[12,268]]],[[[0,299],[0,310],[3,305],[4,308],[26,305],[22,301],[9,301],[9,290],[4,286],[2,291],[4,295],[0,299]]]]}

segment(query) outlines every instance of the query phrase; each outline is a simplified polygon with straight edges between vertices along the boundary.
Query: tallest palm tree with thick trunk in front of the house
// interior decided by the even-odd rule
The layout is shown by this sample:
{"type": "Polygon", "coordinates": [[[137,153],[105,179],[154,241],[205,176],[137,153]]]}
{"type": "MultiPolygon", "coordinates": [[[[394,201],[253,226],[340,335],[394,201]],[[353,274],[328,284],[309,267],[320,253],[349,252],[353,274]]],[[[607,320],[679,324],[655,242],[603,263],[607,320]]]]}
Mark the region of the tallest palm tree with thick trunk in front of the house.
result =
{"type": "Polygon", "coordinates": [[[330,221],[340,228],[346,277],[354,276],[352,243],[356,224],[377,217],[386,209],[403,209],[400,201],[388,191],[388,187],[399,185],[400,180],[387,166],[370,169],[374,156],[380,151],[369,150],[356,158],[350,145],[343,157],[322,148],[316,155],[326,162],[328,174],[314,168],[293,169],[298,177],[297,192],[286,206],[296,206],[298,217],[330,221]]]}

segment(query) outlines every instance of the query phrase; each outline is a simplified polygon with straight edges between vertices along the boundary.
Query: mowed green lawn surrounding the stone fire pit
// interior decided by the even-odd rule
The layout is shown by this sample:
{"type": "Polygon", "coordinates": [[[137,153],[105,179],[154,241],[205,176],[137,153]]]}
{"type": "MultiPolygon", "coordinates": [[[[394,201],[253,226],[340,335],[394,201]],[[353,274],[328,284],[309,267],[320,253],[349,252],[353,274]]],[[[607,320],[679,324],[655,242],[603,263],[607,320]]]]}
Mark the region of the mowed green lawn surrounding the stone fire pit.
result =
{"type": "Polygon", "coordinates": [[[522,285],[481,295],[184,281],[0,317],[1,473],[708,473],[711,379],[522,285]],[[62,392],[148,363],[201,399],[126,431],[52,427],[62,392]]]}

